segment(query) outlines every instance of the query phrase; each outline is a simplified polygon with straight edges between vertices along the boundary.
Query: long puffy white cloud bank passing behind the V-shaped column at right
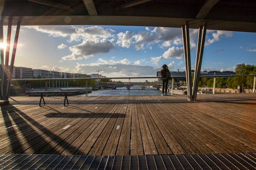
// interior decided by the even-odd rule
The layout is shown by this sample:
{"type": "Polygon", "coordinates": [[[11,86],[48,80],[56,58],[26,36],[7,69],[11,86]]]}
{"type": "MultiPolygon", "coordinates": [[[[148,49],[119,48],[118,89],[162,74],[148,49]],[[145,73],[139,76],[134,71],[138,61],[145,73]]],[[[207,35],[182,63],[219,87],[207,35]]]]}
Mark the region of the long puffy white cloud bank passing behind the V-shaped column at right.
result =
{"type": "MultiPolygon", "coordinates": [[[[216,41],[220,41],[224,37],[231,37],[232,32],[230,31],[214,31],[209,30],[207,33],[211,34],[211,39],[206,40],[205,45],[212,44],[216,41]]],[[[190,48],[193,50],[197,44],[196,40],[198,38],[198,29],[189,30],[189,43],[190,48]]],[[[145,28],[144,31],[137,34],[132,34],[129,31],[125,33],[118,34],[117,44],[122,47],[129,48],[131,45],[135,46],[136,50],[144,49],[145,47],[151,47],[152,44],[162,42],[161,48],[174,45],[182,45],[182,35],[179,28],[165,28],[165,27],[155,27],[153,30],[145,28]]]]}

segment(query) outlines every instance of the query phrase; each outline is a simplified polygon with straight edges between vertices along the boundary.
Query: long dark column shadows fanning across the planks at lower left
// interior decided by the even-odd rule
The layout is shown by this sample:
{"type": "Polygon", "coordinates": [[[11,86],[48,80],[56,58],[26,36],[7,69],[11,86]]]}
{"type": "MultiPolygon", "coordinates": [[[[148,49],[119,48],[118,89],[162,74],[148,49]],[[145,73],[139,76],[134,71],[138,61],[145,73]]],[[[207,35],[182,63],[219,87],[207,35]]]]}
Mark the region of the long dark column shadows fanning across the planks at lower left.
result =
{"type": "MultiPolygon", "coordinates": [[[[9,105],[9,107],[5,108],[1,107],[1,111],[4,118],[4,124],[7,129],[8,138],[10,140],[10,149],[5,149],[5,147],[4,149],[1,149],[3,152],[22,154],[29,149],[31,150],[31,154],[42,154],[39,151],[42,148],[47,147],[47,151],[53,152],[55,154],[61,154],[56,150],[55,147],[49,144],[49,140],[47,141],[46,137],[49,137],[51,141],[58,143],[63,149],[66,149],[67,146],[69,146],[68,151],[70,153],[79,151],[78,148],[73,147],[71,143],[66,142],[58,135],[52,133],[46,127],[40,125],[40,123],[36,122],[36,120],[20,111],[16,107],[12,105],[9,105]],[[13,120],[13,123],[11,119],[13,120]],[[18,129],[18,133],[16,127],[18,129]]],[[[80,153],[82,152],[80,151],[80,153]]]]}

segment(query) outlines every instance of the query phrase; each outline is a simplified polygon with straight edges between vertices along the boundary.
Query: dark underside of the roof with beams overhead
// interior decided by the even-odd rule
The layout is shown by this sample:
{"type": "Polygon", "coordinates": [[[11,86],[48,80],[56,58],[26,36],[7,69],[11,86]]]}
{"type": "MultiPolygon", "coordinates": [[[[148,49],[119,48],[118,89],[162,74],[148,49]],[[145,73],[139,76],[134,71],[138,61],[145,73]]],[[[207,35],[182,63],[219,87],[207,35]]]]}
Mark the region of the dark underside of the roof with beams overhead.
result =
{"type": "Polygon", "coordinates": [[[13,25],[120,25],[256,32],[255,0],[5,0],[1,19],[13,25]]]}

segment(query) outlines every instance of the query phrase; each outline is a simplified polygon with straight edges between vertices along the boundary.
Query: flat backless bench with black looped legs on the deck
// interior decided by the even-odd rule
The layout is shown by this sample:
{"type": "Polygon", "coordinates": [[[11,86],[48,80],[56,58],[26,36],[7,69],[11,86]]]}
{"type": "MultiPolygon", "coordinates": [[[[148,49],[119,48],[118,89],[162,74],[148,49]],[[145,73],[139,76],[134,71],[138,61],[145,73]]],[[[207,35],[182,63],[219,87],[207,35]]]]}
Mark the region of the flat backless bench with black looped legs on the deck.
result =
{"type": "Polygon", "coordinates": [[[69,105],[69,100],[68,100],[68,93],[79,93],[80,91],[76,91],[76,90],[70,90],[70,91],[29,91],[29,94],[41,94],[41,98],[40,98],[40,102],[39,102],[39,106],[45,106],[46,102],[44,99],[44,94],[65,94],[64,97],[64,106],[68,106],[69,105]],[[44,105],[41,105],[41,101],[44,102],[44,105]],[[67,104],[66,104],[67,101],[67,104]]]}

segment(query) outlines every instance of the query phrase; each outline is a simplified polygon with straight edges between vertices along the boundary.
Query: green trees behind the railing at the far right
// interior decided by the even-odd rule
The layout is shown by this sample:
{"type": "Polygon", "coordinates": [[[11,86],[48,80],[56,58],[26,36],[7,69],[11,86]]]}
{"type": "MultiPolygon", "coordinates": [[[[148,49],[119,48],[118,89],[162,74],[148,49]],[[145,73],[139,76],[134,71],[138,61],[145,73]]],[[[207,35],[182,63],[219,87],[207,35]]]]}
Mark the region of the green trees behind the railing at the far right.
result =
{"type": "MultiPolygon", "coordinates": [[[[238,64],[236,66],[236,75],[256,75],[256,66],[248,64],[238,64]]],[[[199,87],[214,86],[214,78],[203,77],[200,78],[199,87]]],[[[253,76],[241,76],[241,77],[216,77],[215,87],[217,88],[252,88],[253,87],[253,76]]]]}

